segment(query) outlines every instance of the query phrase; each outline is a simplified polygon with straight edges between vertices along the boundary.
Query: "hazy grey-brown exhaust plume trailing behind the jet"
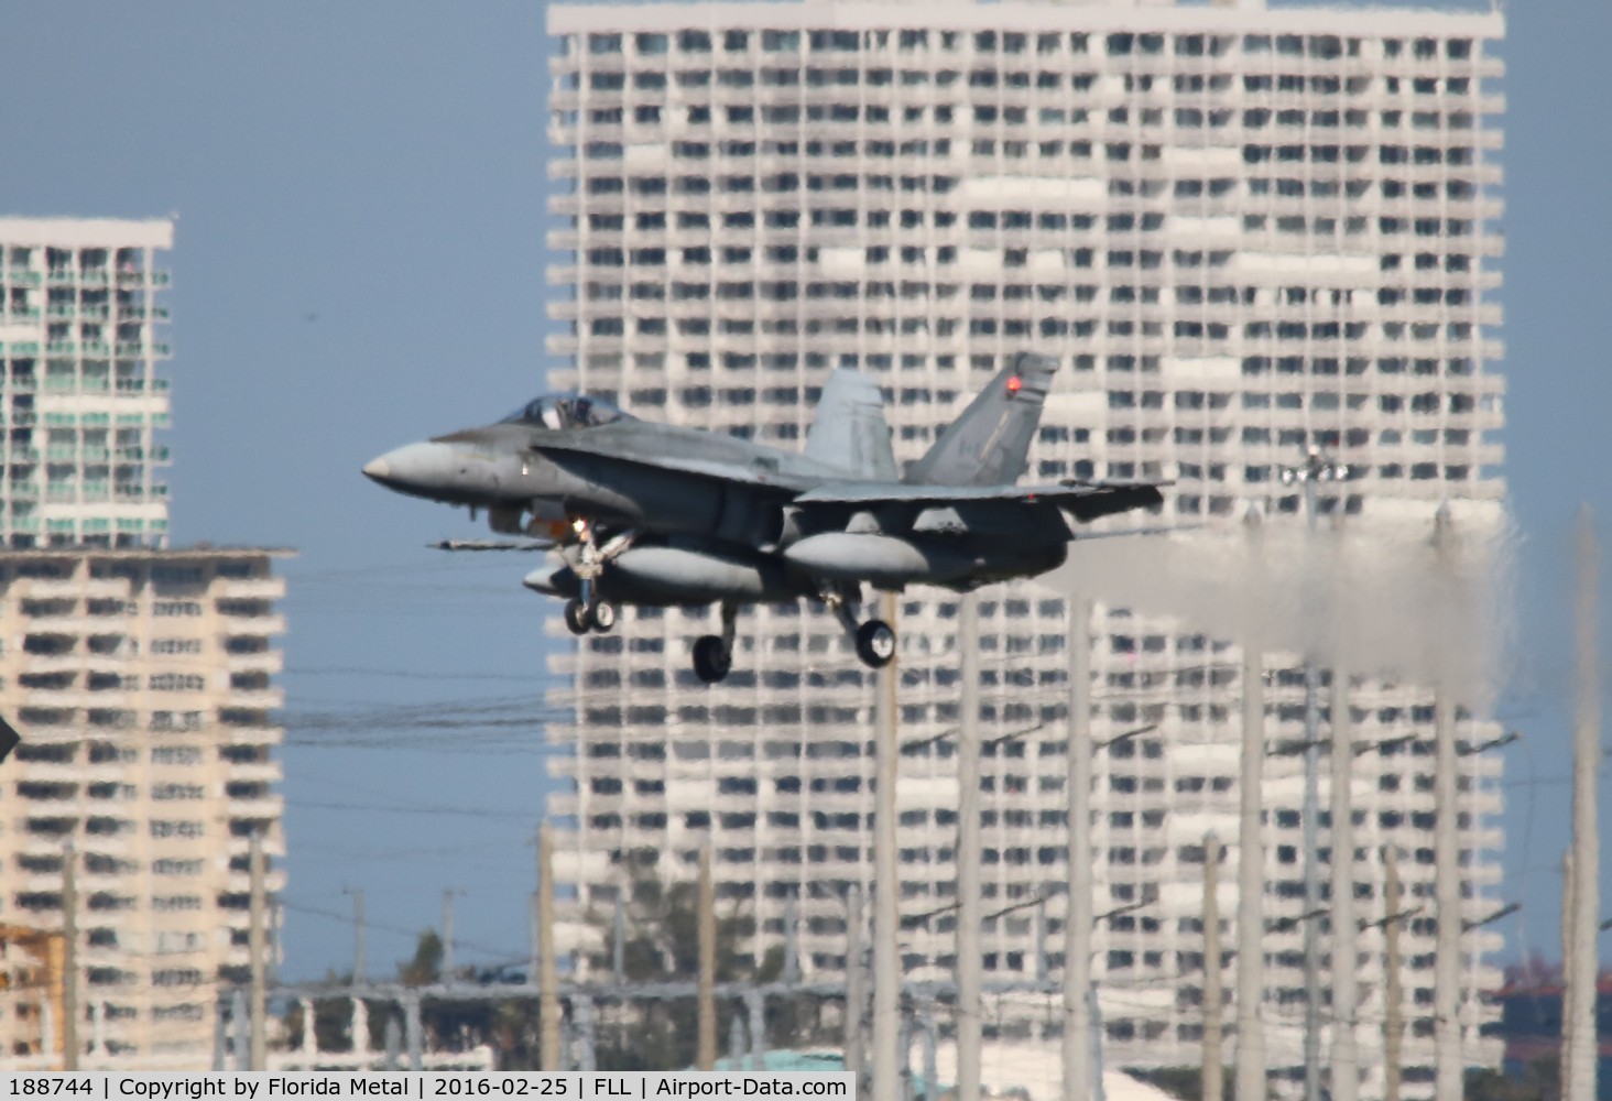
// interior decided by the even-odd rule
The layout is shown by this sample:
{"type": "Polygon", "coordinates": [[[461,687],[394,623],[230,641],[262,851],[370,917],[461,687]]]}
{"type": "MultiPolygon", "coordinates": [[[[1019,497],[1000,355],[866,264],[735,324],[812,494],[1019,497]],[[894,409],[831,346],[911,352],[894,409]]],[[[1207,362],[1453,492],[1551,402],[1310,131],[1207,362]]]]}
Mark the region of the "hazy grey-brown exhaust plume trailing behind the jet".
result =
{"type": "Polygon", "coordinates": [[[1510,642],[1514,535],[1493,513],[1446,506],[1443,516],[1323,516],[1314,529],[1262,517],[1095,538],[1070,546],[1040,584],[1323,666],[1446,685],[1485,711],[1510,642]]]}

